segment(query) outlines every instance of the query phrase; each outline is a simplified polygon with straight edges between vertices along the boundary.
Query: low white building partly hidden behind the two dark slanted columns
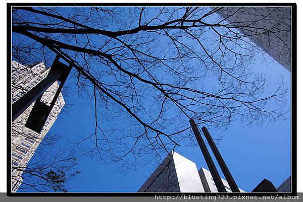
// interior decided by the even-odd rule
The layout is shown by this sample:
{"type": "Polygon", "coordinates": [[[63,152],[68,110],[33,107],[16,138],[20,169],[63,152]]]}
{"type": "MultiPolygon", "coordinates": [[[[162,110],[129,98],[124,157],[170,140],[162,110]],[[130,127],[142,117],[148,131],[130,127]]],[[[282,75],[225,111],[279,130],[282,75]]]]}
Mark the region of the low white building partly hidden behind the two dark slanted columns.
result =
{"type": "MultiPolygon", "coordinates": [[[[200,176],[200,179],[203,184],[203,188],[204,188],[205,192],[218,192],[211,172],[205,168],[201,168],[198,172],[199,172],[199,176],[200,176]]],[[[222,178],[221,178],[221,180],[225,186],[226,191],[232,192],[228,185],[228,182],[222,178]]],[[[245,192],[244,190],[242,190],[240,188],[239,188],[239,190],[240,190],[240,192],[245,192]]]]}

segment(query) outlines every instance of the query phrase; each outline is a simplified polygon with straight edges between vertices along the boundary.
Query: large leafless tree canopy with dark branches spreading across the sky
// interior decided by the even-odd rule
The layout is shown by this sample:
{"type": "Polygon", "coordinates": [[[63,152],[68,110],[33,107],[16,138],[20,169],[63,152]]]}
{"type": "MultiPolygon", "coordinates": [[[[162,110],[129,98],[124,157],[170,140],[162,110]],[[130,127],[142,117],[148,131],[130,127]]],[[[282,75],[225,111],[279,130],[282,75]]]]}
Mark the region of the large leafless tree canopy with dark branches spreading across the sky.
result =
{"type": "Polygon", "coordinates": [[[49,65],[59,54],[72,63],[95,110],[94,132],[77,149],[126,171],[194,140],[190,118],[217,129],[235,117],[257,125],[286,118],[287,87],[280,79],[269,90],[250,69],[264,51],[241,32],[279,31],[231,24],[222,9],[13,7],[13,58],[49,65]]]}

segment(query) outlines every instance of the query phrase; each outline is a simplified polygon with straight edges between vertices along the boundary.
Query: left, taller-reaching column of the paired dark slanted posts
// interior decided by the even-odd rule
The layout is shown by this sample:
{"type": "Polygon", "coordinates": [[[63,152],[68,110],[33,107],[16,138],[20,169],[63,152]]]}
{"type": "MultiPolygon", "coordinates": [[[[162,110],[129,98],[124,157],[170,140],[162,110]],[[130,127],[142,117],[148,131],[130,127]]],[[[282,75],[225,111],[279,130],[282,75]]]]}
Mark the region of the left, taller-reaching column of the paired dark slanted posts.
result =
{"type": "Polygon", "coordinates": [[[193,130],[193,133],[194,133],[194,135],[195,135],[195,137],[197,139],[197,142],[198,142],[198,144],[200,146],[200,149],[201,149],[202,154],[203,154],[203,156],[205,158],[207,166],[210,169],[210,172],[211,172],[211,174],[213,176],[213,179],[214,179],[214,182],[215,182],[215,184],[217,186],[218,191],[219,192],[226,192],[226,189],[225,189],[224,184],[223,184],[223,182],[221,180],[221,177],[220,177],[220,175],[218,173],[218,170],[216,169],[216,166],[215,166],[215,164],[214,164],[214,162],[212,160],[212,157],[211,157],[210,153],[208,152],[208,150],[206,148],[206,145],[205,145],[205,143],[204,143],[204,141],[203,141],[203,139],[202,139],[202,137],[200,135],[200,132],[198,130],[198,127],[197,127],[196,123],[194,122],[193,119],[190,119],[189,123],[190,123],[190,125],[192,127],[192,130],[193,130]]]}

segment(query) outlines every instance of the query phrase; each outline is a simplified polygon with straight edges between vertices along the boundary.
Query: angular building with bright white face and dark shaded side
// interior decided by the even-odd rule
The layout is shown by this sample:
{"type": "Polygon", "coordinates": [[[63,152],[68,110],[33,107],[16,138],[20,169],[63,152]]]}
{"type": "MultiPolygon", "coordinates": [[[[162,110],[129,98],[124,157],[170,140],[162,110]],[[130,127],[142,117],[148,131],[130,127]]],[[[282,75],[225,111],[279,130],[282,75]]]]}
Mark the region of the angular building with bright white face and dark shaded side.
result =
{"type": "Polygon", "coordinates": [[[172,151],[138,192],[204,192],[204,189],[195,163],[172,151]]]}

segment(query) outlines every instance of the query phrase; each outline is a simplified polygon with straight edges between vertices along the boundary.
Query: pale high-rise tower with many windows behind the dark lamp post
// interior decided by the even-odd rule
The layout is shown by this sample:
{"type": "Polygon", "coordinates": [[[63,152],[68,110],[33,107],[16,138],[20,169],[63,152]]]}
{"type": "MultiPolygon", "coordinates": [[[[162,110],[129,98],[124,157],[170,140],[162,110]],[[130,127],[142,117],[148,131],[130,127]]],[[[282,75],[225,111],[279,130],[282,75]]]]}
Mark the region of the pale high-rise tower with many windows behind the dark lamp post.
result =
{"type": "MultiPolygon", "coordinates": [[[[45,68],[43,62],[27,67],[16,61],[12,61],[12,104],[42,81],[47,76],[48,71],[49,69],[45,68]]],[[[44,92],[41,101],[44,104],[50,105],[58,87],[58,82],[50,86],[44,92]]],[[[12,192],[16,192],[21,185],[23,181],[21,175],[27,163],[33,156],[45,134],[56,121],[64,104],[62,93],[60,93],[40,133],[25,127],[34,103],[12,122],[12,166],[18,168],[12,168],[12,192]]]]}

